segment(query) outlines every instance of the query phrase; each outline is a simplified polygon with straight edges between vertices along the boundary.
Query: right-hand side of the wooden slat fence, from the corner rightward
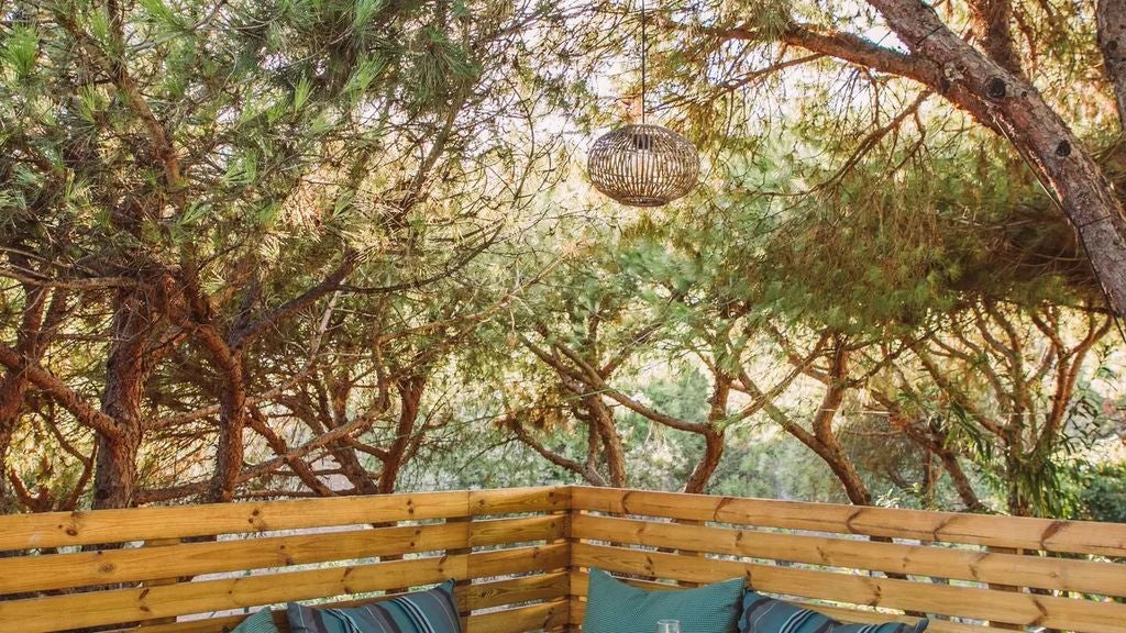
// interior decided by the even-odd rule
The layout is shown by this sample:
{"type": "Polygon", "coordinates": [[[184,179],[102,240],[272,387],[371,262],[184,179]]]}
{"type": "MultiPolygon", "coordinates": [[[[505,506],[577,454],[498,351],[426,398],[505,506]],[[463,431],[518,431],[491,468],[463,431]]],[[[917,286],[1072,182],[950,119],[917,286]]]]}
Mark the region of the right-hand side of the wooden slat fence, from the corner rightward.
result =
{"type": "Polygon", "coordinates": [[[938,633],[1126,632],[1126,525],[602,488],[574,488],[571,503],[578,621],[597,567],[650,582],[743,576],[846,621],[924,613],[938,633]]]}

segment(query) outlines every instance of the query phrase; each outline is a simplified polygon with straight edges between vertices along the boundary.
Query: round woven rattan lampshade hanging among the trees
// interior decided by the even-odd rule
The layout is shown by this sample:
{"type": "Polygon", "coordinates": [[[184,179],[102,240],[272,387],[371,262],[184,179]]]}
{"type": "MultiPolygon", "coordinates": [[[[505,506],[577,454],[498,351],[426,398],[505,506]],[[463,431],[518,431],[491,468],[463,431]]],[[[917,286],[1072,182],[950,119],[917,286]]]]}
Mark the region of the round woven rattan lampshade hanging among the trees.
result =
{"type": "Polygon", "coordinates": [[[624,125],[595,141],[587,157],[595,187],[629,206],[661,206],[696,186],[696,148],[660,125],[624,125]]]}

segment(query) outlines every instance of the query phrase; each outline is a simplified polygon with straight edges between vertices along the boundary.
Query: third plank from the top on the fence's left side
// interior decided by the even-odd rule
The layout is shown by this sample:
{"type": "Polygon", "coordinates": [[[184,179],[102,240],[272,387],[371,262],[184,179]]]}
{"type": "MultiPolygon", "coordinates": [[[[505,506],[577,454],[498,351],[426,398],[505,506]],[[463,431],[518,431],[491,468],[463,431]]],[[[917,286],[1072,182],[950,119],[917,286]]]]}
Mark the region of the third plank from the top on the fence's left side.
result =
{"type": "Polygon", "coordinates": [[[566,565],[561,545],[519,547],[461,556],[431,556],[167,587],[116,589],[0,601],[0,624],[23,631],[59,631],[149,621],[266,604],[365,594],[393,587],[558,569],[566,565]],[[471,562],[472,560],[472,562],[471,562]],[[44,614],[51,614],[50,618],[44,614]]]}

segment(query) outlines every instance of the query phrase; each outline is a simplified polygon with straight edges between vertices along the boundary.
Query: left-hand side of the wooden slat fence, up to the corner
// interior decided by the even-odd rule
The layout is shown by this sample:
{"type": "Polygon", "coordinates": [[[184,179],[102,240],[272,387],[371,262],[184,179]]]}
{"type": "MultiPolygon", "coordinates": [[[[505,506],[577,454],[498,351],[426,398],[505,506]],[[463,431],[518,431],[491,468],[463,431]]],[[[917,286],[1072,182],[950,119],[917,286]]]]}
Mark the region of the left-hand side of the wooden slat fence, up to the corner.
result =
{"type": "MultiPolygon", "coordinates": [[[[263,605],[453,578],[471,581],[458,589],[470,631],[555,628],[569,615],[569,494],[533,488],[0,517],[0,551],[24,554],[0,559],[0,623],[215,633],[263,605]],[[194,542],[137,546],[170,538],[194,542]],[[408,556],[379,562],[399,554],[408,556]]],[[[283,615],[275,619],[285,627],[283,615]]]]}

